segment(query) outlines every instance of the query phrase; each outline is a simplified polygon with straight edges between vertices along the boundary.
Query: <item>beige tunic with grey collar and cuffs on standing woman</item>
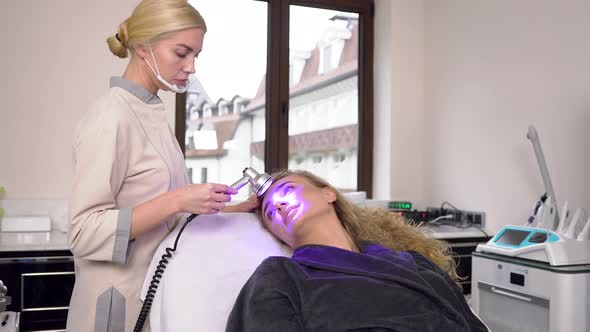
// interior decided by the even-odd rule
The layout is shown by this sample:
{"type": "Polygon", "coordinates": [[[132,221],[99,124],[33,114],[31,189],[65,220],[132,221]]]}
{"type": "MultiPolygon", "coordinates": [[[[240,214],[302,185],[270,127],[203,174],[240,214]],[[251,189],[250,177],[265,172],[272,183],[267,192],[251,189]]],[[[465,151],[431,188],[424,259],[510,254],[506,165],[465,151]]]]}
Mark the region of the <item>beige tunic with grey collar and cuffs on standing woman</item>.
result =
{"type": "Polygon", "coordinates": [[[68,331],[132,331],[148,265],[177,217],[129,241],[131,211],[186,184],[184,158],[162,101],[122,78],[80,121],[73,150],[68,331]]]}

